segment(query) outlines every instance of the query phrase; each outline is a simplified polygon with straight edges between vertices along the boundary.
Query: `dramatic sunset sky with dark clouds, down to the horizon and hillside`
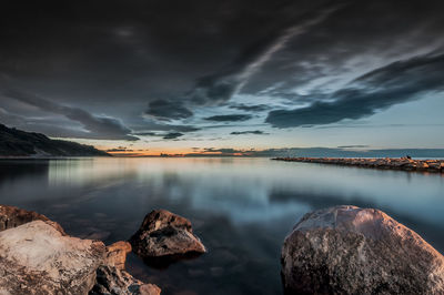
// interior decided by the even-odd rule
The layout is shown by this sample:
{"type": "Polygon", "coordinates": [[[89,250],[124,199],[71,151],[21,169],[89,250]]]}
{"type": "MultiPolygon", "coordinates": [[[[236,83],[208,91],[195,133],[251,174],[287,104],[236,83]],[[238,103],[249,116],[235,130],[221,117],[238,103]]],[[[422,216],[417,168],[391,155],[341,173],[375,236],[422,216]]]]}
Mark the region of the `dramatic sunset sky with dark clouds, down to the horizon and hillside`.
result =
{"type": "Polygon", "coordinates": [[[122,154],[442,149],[443,11],[4,0],[0,123],[122,154]]]}

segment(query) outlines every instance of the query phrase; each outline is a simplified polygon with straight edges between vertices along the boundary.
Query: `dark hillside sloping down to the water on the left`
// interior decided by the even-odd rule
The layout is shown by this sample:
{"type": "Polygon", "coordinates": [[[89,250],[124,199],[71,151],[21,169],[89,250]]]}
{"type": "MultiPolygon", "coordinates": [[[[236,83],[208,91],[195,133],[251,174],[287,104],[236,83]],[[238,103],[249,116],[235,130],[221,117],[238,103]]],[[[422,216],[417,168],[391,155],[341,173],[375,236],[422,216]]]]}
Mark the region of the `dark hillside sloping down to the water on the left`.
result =
{"type": "Polygon", "coordinates": [[[0,124],[0,156],[110,156],[94,146],[51,140],[41,133],[26,132],[0,124]]]}

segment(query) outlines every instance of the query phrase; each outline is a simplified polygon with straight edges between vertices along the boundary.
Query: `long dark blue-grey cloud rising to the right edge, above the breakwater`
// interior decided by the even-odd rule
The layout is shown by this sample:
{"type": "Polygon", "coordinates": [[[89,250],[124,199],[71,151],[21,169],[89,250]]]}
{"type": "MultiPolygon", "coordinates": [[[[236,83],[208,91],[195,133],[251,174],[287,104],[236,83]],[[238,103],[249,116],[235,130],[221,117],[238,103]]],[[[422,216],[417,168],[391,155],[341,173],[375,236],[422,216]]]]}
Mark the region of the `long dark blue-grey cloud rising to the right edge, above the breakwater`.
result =
{"type": "Polygon", "coordinates": [[[355,79],[332,93],[331,102],[315,102],[290,111],[271,111],[265,122],[275,128],[292,128],[365,118],[394,104],[443,91],[443,72],[444,54],[397,61],[355,79]]]}

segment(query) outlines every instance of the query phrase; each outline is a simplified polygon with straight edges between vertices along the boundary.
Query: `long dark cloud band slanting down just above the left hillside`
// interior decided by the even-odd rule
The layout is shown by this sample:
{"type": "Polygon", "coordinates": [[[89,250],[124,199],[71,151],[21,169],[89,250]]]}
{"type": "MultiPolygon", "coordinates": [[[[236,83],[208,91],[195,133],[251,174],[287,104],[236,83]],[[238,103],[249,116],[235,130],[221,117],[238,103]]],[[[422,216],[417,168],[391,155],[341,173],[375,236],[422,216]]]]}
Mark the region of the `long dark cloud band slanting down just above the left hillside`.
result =
{"type": "Polygon", "coordinates": [[[89,132],[89,139],[98,140],[128,140],[138,141],[139,138],[131,135],[131,130],[114,118],[95,116],[79,109],[62,105],[37,95],[31,95],[22,91],[7,89],[3,94],[8,98],[33,105],[42,111],[63,115],[72,121],[79,122],[89,132]]]}

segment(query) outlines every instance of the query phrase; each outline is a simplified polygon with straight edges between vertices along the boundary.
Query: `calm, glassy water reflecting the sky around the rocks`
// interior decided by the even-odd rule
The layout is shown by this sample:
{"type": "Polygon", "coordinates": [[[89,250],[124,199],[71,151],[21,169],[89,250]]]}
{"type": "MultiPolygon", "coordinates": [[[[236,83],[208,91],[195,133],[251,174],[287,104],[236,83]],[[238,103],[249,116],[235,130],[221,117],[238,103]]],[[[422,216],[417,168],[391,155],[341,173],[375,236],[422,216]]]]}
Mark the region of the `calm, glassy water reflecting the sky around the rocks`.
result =
{"type": "Polygon", "coordinates": [[[162,294],[282,294],[280,248],[306,212],[377,207],[444,252],[444,177],[268,159],[0,161],[0,203],[34,210],[107,244],[167,208],[190,218],[209,253],[168,269],[130,255],[162,294]]]}

